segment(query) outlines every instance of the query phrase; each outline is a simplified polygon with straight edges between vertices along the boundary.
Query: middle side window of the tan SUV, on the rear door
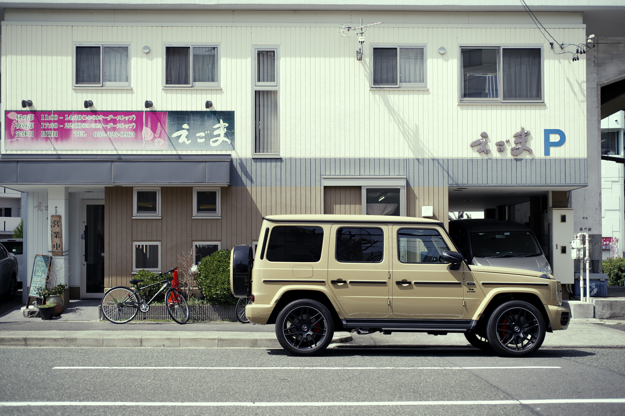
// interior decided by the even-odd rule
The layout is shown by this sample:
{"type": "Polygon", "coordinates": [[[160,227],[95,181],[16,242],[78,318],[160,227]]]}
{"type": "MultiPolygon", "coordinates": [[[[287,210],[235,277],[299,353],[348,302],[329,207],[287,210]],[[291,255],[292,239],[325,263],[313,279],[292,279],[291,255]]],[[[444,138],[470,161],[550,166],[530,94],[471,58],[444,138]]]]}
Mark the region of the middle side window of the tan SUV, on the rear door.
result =
{"type": "Polygon", "coordinates": [[[336,230],[336,260],[379,263],[384,258],[384,232],[374,227],[341,227],[336,230]]]}

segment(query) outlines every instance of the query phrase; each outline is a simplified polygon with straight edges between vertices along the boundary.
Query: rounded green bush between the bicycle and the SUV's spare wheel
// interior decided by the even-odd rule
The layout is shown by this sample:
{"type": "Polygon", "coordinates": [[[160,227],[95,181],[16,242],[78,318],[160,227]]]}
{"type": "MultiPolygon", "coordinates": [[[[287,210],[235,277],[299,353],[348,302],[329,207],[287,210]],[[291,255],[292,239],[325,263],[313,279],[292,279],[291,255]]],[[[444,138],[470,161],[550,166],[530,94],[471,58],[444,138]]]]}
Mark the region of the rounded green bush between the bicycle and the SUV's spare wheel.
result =
{"type": "Polygon", "coordinates": [[[204,257],[197,266],[197,285],[211,305],[234,305],[230,292],[230,250],[219,250],[204,257]]]}

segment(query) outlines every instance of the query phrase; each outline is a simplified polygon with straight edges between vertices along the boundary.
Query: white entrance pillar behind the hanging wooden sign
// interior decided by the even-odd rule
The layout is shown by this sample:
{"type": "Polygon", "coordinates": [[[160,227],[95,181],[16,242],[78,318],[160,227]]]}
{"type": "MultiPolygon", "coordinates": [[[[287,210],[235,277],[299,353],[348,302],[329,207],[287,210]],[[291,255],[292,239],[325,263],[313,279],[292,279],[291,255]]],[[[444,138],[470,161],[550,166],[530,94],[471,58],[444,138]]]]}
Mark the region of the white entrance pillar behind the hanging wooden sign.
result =
{"type": "Polygon", "coordinates": [[[47,249],[52,254],[52,236],[50,233],[52,215],[61,215],[61,231],[63,232],[63,255],[53,256],[51,279],[56,284],[68,285],[63,302],[69,304],[69,188],[66,186],[49,186],[47,188],[47,249]]]}

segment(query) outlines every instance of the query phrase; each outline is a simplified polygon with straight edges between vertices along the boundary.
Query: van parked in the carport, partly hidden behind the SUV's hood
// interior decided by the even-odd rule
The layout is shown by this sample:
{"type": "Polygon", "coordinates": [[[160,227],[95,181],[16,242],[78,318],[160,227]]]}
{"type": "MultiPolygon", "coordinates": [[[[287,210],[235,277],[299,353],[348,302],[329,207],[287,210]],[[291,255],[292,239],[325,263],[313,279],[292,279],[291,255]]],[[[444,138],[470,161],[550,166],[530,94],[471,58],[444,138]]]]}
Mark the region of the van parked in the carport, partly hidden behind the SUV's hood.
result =
{"type": "Polygon", "coordinates": [[[454,220],[449,221],[449,235],[469,264],[551,274],[536,235],[519,222],[454,220]]]}

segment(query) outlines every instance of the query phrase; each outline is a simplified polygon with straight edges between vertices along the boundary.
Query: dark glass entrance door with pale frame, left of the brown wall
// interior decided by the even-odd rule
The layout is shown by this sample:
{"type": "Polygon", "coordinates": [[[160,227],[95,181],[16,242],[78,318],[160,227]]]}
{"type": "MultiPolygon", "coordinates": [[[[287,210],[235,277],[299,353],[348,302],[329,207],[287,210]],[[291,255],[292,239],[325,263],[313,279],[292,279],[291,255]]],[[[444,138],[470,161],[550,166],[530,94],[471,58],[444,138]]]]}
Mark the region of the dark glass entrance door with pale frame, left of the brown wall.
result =
{"type": "Polygon", "coordinates": [[[104,201],[81,201],[81,284],[82,298],[104,295],[104,201]]]}

